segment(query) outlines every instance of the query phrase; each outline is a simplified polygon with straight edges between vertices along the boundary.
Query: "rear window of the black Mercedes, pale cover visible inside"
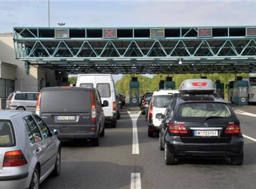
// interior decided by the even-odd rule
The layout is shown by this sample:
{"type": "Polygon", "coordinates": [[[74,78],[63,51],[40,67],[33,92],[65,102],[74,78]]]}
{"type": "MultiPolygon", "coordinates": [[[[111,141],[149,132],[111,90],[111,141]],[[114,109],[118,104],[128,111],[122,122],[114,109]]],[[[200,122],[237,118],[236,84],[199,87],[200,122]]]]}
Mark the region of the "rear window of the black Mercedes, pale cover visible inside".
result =
{"type": "Polygon", "coordinates": [[[185,103],[177,111],[178,117],[231,117],[231,115],[227,104],[212,102],[185,103]]]}

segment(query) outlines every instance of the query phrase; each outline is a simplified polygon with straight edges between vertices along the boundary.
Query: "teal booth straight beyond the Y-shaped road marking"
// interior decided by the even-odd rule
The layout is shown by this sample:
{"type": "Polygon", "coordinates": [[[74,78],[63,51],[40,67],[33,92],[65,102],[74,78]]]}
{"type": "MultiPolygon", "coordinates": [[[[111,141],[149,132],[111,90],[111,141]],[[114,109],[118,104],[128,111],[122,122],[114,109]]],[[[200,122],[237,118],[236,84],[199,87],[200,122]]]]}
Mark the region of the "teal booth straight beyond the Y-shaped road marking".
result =
{"type": "Polygon", "coordinates": [[[139,106],[138,77],[132,77],[130,81],[130,106],[139,106]]]}

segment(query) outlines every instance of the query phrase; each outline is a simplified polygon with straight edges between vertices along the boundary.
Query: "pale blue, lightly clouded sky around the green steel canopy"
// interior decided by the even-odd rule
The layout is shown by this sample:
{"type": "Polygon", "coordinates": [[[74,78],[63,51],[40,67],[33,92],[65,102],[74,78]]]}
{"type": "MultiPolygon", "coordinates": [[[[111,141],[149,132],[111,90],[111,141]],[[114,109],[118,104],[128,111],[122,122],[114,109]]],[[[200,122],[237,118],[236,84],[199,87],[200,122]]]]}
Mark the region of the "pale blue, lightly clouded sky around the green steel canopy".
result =
{"type": "MultiPolygon", "coordinates": [[[[256,0],[50,0],[50,26],[256,26],[255,10],[256,0]]],[[[48,0],[0,0],[0,33],[14,26],[48,27],[48,0]]]]}

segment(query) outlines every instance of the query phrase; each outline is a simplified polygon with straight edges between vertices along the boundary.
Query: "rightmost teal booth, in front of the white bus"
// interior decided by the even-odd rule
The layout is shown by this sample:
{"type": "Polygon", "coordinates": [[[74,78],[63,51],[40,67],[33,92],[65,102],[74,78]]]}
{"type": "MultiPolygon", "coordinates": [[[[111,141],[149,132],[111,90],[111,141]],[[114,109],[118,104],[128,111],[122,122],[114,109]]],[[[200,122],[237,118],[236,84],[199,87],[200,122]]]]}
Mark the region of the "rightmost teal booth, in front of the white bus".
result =
{"type": "Polygon", "coordinates": [[[242,76],[237,76],[234,81],[234,103],[238,105],[248,104],[248,82],[242,80],[242,76]]]}

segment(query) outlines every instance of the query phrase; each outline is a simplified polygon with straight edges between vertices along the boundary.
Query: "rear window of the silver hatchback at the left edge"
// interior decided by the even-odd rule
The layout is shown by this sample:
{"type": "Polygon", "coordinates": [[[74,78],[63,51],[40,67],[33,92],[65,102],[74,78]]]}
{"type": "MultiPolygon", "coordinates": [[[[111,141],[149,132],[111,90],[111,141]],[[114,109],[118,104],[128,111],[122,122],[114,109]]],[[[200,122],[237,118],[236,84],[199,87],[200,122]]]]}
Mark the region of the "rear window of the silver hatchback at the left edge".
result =
{"type": "Polygon", "coordinates": [[[0,120],[0,147],[15,146],[15,135],[10,120],[0,120]]]}

